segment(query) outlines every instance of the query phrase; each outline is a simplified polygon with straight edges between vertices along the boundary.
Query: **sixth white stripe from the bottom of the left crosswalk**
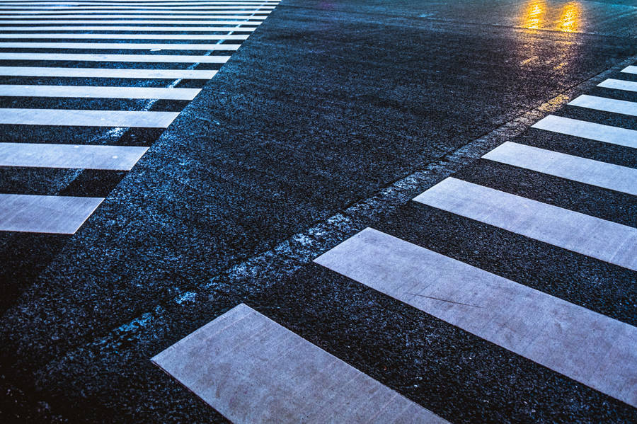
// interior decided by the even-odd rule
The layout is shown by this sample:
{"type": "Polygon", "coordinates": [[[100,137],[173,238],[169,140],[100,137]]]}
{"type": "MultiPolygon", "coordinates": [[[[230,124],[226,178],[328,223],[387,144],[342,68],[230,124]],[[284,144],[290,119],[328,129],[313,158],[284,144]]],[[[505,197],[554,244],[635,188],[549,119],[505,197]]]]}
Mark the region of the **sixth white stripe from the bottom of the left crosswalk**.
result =
{"type": "Polygon", "coordinates": [[[229,56],[80,55],[74,53],[0,53],[0,60],[58,60],[73,62],[225,63],[229,56]]]}

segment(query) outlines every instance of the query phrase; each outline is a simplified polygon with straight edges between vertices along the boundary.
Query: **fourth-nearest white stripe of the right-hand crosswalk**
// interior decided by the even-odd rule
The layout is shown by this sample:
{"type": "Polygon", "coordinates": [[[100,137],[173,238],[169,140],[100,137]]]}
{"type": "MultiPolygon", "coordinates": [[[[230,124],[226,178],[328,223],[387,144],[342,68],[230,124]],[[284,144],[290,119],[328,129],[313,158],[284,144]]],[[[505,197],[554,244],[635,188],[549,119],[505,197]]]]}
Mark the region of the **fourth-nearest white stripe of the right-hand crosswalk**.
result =
{"type": "Polygon", "coordinates": [[[637,169],[626,166],[607,164],[513,142],[505,142],[482,157],[490,161],[637,195],[637,169]]]}

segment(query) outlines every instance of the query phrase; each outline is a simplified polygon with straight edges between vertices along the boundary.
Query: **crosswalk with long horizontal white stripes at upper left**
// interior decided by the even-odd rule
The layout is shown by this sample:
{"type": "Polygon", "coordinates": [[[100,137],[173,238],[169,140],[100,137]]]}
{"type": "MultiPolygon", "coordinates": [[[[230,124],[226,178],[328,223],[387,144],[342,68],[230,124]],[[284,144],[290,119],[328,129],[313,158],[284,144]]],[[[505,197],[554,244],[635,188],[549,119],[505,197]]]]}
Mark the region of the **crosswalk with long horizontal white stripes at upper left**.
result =
{"type": "MultiPolygon", "coordinates": [[[[1,1],[0,166],[130,170],[278,3],[1,1]]],[[[103,201],[4,190],[0,231],[74,234],[103,201]]]]}

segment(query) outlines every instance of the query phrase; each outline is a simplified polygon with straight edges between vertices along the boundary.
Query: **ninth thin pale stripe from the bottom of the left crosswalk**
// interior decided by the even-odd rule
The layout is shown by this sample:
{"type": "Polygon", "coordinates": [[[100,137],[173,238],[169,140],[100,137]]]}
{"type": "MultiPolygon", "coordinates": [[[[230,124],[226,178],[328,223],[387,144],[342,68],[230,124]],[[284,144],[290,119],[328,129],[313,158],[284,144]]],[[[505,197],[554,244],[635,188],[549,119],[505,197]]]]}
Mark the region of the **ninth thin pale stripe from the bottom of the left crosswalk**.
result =
{"type": "Polygon", "coordinates": [[[256,26],[0,26],[0,31],[156,31],[156,32],[230,32],[246,33],[256,26]]]}

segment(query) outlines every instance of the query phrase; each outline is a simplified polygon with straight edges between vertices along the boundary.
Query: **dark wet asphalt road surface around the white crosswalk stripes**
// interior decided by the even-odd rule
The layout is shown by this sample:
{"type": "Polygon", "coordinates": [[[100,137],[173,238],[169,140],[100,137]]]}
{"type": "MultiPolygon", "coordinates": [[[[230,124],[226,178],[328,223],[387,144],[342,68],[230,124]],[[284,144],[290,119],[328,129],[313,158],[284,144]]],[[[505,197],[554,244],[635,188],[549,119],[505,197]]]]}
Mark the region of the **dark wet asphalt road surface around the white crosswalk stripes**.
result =
{"type": "MultiPolygon", "coordinates": [[[[151,105],[183,108],[165,131],[0,125],[6,141],[150,147],[130,172],[0,167],[1,193],[108,196],[74,236],[0,234],[0,420],[222,423],[149,358],[244,302],[452,423],[634,422],[626,404],[311,259],[371,226],[636,325],[635,273],[408,202],[457,171],[636,227],[629,195],[478,159],[510,140],[637,166],[627,147],[528,129],[548,111],[637,129],[563,106],[637,101],[595,88],[637,81],[619,73],[637,62],[636,16],[612,0],[283,0],[229,62],[197,67],[214,79],[180,82],[203,87],[194,101],[151,105]]],[[[104,84],[62,80],[0,84],[104,84]]],[[[146,81],[125,84],[166,84],[146,81]]]]}

